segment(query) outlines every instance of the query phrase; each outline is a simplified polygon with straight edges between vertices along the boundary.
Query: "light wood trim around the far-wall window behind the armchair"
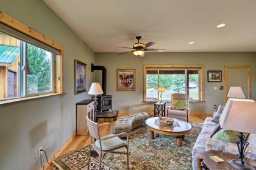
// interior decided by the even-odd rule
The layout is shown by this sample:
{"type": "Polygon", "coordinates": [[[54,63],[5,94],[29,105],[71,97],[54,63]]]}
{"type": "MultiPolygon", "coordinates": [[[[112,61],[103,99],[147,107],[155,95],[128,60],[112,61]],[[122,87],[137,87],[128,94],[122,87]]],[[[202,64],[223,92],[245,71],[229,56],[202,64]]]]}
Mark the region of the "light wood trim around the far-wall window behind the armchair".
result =
{"type": "MultiPolygon", "coordinates": [[[[201,102],[201,101],[205,101],[205,97],[204,97],[204,65],[201,64],[183,64],[183,65],[159,65],[159,64],[144,64],[143,65],[143,101],[144,102],[150,102],[149,100],[146,100],[146,69],[159,69],[159,68],[164,68],[164,69],[168,69],[168,68],[177,68],[177,69],[181,69],[181,68],[197,68],[200,70],[200,98],[201,100],[199,101],[195,101],[195,102],[201,102]]],[[[155,102],[155,101],[154,101],[155,102]]]]}

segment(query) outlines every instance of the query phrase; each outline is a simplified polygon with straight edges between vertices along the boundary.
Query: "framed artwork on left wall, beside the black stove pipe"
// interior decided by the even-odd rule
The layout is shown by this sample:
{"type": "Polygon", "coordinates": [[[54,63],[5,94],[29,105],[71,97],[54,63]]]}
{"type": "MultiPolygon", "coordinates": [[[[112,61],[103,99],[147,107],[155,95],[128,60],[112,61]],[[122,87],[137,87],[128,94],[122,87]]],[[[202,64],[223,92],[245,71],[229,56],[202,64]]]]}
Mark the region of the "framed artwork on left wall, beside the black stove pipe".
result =
{"type": "Polygon", "coordinates": [[[80,61],[74,61],[74,87],[75,94],[86,92],[87,84],[87,64],[80,61]]]}

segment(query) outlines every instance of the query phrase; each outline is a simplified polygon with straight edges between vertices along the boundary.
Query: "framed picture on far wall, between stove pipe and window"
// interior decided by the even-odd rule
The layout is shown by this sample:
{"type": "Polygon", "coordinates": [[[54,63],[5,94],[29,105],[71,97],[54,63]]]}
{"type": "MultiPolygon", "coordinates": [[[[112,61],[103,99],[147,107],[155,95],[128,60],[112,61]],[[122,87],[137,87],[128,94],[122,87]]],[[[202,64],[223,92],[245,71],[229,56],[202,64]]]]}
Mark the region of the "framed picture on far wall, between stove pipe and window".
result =
{"type": "Polygon", "coordinates": [[[135,69],[117,70],[117,90],[135,91],[135,69]]]}

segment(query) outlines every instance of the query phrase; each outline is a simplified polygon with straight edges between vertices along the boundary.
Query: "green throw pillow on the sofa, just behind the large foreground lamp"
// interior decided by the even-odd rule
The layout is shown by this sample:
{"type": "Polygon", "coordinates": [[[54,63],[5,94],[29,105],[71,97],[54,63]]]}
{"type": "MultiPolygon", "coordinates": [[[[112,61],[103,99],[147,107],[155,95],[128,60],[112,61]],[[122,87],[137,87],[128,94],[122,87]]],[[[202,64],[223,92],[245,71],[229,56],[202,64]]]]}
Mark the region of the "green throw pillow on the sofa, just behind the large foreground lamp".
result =
{"type": "MultiPolygon", "coordinates": [[[[222,141],[228,141],[228,142],[231,142],[231,143],[236,143],[235,138],[237,137],[238,134],[239,134],[239,132],[237,132],[237,131],[221,129],[221,131],[219,131],[215,135],[213,135],[212,138],[222,140],[222,141]]],[[[247,137],[248,135],[249,134],[244,133],[244,136],[247,137]]]]}

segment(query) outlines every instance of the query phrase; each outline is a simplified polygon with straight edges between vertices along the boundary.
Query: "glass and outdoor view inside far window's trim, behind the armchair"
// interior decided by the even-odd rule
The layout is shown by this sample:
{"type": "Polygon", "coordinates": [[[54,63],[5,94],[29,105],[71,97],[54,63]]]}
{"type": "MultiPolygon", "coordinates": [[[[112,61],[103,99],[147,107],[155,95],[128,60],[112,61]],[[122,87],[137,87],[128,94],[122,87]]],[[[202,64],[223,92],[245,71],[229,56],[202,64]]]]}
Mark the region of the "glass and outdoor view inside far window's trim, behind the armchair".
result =
{"type": "Polygon", "coordinates": [[[162,100],[170,101],[171,94],[188,94],[190,100],[199,100],[199,71],[198,70],[147,70],[146,99],[158,100],[158,87],[164,87],[162,100]],[[187,80],[186,80],[187,73],[187,80]],[[187,83],[187,86],[186,86],[187,83]],[[187,89],[186,89],[187,87],[187,89]]]}

